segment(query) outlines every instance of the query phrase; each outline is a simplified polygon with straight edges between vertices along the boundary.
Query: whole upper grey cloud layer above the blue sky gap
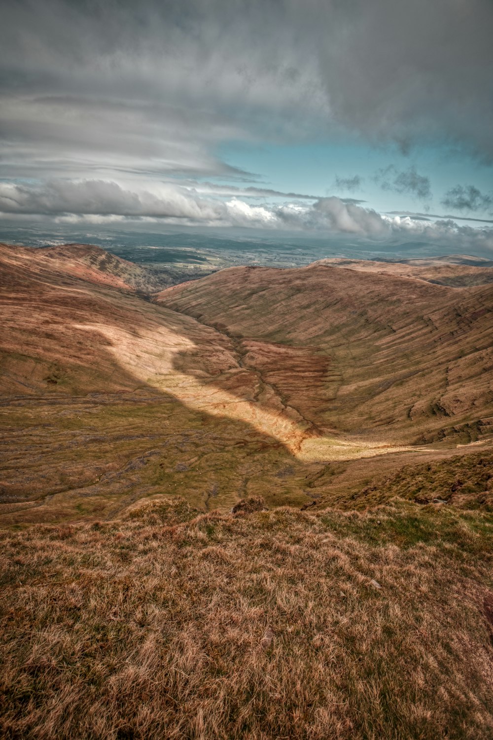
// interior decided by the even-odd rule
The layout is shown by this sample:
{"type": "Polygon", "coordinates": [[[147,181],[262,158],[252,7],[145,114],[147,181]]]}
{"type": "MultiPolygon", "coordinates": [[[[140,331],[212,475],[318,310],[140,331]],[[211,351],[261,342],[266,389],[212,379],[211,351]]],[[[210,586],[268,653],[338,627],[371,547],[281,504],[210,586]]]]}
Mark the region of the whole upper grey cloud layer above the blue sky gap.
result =
{"type": "Polygon", "coordinates": [[[490,0],[4,3],[4,176],[244,177],[218,144],[341,133],[492,161],[492,24],[490,0]]]}

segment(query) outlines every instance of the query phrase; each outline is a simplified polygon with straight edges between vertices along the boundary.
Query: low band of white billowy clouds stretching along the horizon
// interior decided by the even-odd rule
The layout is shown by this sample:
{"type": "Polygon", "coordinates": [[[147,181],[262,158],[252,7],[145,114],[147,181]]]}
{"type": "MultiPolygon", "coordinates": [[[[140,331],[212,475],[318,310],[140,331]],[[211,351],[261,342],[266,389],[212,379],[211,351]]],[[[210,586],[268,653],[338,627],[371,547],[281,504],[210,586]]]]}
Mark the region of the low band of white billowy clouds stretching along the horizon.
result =
{"type": "Polygon", "coordinates": [[[331,196],[313,203],[286,201],[252,205],[239,197],[204,198],[177,184],[150,183],[135,189],[114,181],[52,180],[38,184],[0,182],[0,215],[51,218],[58,223],[111,224],[150,222],[227,228],[268,229],[309,235],[353,236],[372,244],[426,240],[450,252],[492,252],[493,229],[457,226],[413,216],[380,214],[350,199],[331,196]]]}

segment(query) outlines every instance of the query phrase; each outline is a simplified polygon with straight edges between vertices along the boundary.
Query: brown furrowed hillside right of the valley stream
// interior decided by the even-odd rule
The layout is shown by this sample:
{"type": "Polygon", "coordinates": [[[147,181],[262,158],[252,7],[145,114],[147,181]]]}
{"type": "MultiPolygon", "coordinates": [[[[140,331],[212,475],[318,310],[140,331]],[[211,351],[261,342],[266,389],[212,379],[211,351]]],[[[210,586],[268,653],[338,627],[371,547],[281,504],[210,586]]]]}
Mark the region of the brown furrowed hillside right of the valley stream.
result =
{"type": "Polygon", "coordinates": [[[314,263],[231,268],[157,300],[235,337],[245,363],[252,342],[255,363],[269,358],[271,372],[279,345],[317,357],[314,372],[323,358],[313,379],[292,364],[289,392],[324,433],[418,444],[493,431],[493,286],[457,290],[314,263]]]}

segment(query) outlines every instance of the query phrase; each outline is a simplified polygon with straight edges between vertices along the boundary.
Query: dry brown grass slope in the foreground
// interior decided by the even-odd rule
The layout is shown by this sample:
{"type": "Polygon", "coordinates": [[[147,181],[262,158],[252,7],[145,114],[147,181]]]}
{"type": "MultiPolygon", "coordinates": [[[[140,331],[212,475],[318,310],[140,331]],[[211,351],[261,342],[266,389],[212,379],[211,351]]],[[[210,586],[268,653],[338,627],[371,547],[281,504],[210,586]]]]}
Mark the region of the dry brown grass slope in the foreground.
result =
{"type": "Polygon", "coordinates": [[[492,552],[400,501],[4,532],[1,736],[491,738],[492,552]]]}

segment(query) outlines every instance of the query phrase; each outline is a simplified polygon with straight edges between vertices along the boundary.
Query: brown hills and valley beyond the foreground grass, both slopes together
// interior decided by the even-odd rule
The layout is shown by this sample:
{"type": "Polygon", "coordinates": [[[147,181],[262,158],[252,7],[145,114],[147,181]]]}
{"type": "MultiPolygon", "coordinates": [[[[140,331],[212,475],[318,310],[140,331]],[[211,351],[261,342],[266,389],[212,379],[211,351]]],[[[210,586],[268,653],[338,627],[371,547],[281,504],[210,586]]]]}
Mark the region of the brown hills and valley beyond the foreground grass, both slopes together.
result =
{"type": "Polygon", "coordinates": [[[84,245],[3,246],[0,268],[5,523],[175,493],[354,508],[457,454],[480,485],[493,286],[315,263],[151,296],[143,269],[84,245]]]}

